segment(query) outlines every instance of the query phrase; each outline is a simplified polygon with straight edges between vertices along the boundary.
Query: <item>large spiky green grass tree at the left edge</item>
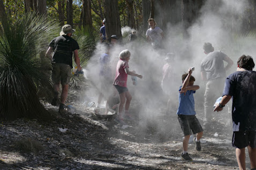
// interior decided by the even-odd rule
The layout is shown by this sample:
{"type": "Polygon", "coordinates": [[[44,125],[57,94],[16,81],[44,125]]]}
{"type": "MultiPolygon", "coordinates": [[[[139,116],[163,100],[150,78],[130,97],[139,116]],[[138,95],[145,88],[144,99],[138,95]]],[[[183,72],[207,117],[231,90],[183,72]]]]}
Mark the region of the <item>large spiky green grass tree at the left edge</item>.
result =
{"type": "Polygon", "coordinates": [[[56,26],[28,13],[0,33],[0,118],[49,118],[38,98],[50,87],[49,64],[40,58],[56,26]]]}

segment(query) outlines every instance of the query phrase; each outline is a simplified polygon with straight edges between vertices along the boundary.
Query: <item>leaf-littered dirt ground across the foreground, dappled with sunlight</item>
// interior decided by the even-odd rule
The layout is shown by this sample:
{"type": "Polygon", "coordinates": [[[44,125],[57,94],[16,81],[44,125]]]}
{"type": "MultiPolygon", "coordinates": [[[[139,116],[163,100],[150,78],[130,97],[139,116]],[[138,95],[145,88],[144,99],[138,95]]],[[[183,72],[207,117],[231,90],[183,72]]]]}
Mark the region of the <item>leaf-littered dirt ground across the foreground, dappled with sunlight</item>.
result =
{"type": "Polygon", "coordinates": [[[231,127],[218,122],[214,132],[204,132],[201,152],[189,144],[193,161],[184,161],[182,133],[172,117],[129,122],[123,129],[91,110],[77,107],[76,114],[60,117],[57,107],[45,106],[53,121],[1,122],[0,169],[238,169],[231,127]]]}

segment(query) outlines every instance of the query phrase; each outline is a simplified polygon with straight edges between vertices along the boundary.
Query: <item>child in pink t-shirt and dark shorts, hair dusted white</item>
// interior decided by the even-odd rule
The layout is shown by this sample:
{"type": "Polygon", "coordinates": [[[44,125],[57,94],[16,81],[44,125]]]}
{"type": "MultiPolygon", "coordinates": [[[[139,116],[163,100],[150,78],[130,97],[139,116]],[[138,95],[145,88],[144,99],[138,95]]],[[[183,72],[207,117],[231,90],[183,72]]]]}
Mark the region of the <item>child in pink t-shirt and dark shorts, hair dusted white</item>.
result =
{"type": "Polygon", "coordinates": [[[127,88],[127,76],[137,76],[138,78],[142,79],[142,75],[136,74],[134,71],[129,71],[128,61],[130,60],[130,51],[123,50],[119,54],[120,60],[116,65],[116,72],[115,72],[115,80],[113,85],[115,86],[116,90],[119,92],[120,104],[118,107],[118,115],[114,119],[115,122],[120,123],[122,125],[126,125],[123,122],[123,119],[131,119],[129,115],[129,106],[131,101],[131,95],[127,88]],[[125,105],[125,114],[122,114],[123,105],[125,105]]]}

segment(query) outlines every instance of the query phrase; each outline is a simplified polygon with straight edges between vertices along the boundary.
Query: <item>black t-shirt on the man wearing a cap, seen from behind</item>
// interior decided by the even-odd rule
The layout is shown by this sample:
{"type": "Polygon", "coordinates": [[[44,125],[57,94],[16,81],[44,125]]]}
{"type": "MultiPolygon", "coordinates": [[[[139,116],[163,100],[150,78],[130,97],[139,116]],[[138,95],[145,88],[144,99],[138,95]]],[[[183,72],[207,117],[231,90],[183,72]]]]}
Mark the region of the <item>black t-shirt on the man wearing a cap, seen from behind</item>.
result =
{"type": "Polygon", "coordinates": [[[55,63],[64,63],[72,67],[73,51],[79,49],[79,45],[70,36],[61,35],[54,38],[50,44],[50,47],[54,49],[53,61],[55,63]]]}

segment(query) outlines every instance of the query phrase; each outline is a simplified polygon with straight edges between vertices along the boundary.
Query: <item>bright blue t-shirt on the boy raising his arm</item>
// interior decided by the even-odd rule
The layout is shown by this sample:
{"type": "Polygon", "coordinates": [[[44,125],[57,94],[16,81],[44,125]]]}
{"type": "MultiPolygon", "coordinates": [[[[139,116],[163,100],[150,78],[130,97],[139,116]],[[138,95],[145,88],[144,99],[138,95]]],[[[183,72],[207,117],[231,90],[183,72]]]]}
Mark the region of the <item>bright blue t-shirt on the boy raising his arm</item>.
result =
{"type": "MultiPolygon", "coordinates": [[[[181,87],[179,88],[179,91],[181,90],[181,87]]],[[[177,114],[183,114],[183,115],[195,115],[195,101],[193,94],[195,93],[195,90],[188,90],[186,92],[186,95],[179,94],[179,107],[177,114]]]]}

